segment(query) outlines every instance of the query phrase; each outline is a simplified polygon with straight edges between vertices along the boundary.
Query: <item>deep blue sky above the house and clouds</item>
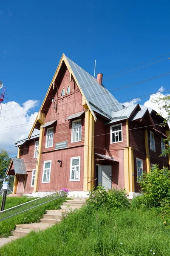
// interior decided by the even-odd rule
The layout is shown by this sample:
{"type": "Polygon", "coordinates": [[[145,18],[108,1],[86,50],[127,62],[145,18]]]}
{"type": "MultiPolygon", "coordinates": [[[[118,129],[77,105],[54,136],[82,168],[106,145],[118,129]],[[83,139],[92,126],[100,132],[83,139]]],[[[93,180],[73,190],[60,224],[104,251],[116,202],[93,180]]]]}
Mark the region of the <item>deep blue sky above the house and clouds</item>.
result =
{"type": "MultiPolygon", "coordinates": [[[[2,0],[0,80],[11,95],[6,102],[41,103],[63,52],[92,75],[96,59],[96,73],[104,77],[170,52],[169,10],[166,0],[2,0]]],[[[112,90],[169,71],[170,60],[161,61],[104,85],[112,90]]],[[[121,102],[167,89],[169,81],[166,76],[113,95],[121,102]]]]}

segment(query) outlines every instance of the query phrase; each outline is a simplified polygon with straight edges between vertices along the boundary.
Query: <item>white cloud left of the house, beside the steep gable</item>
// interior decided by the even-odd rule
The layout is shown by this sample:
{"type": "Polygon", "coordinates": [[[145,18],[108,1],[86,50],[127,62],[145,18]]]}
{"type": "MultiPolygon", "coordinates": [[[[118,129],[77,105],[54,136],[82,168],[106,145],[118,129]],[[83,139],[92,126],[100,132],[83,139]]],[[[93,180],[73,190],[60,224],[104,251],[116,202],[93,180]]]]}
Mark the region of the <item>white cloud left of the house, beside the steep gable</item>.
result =
{"type": "Polygon", "coordinates": [[[0,116],[0,148],[9,151],[9,154],[17,155],[17,148],[14,143],[23,137],[28,136],[37,112],[34,111],[37,100],[28,100],[21,106],[11,101],[2,105],[0,116]],[[4,117],[4,118],[3,118],[4,117]]]}

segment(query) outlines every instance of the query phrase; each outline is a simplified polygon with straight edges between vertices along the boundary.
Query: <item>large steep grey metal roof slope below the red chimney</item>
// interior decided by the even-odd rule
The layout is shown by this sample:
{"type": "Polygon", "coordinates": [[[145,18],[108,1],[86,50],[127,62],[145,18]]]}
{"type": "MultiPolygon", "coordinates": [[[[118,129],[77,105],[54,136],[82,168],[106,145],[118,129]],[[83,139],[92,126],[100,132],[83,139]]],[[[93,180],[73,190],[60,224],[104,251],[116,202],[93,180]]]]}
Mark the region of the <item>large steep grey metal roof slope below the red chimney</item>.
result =
{"type": "MultiPolygon", "coordinates": [[[[92,102],[108,115],[111,115],[112,111],[119,111],[123,108],[115,97],[103,85],[98,83],[94,76],[91,76],[68,57],[65,56],[65,58],[76,76],[88,103],[92,102]]],[[[95,111],[95,108],[93,107],[92,110],[95,111]]]]}

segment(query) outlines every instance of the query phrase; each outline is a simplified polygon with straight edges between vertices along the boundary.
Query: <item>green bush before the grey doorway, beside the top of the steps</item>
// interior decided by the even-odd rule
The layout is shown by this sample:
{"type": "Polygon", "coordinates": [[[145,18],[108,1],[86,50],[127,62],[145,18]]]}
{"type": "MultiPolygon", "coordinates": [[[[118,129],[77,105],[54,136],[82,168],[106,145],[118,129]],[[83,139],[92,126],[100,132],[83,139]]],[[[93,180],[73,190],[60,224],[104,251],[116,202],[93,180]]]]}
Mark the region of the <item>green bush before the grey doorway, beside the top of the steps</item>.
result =
{"type": "Polygon", "coordinates": [[[104,207],[106,211],[130,206],[125,190],[110,189],[107,192],[101,185],[91,190],[87,204],[96,209],[104,207]]]}

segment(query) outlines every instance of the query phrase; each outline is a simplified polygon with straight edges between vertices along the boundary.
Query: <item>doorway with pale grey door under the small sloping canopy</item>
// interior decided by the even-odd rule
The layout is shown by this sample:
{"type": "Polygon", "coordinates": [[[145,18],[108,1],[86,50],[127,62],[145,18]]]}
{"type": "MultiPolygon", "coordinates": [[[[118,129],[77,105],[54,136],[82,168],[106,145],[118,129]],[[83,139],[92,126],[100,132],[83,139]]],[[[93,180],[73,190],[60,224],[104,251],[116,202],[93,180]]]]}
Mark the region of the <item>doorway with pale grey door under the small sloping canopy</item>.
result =
{"type": "Polygon", "coordinates": [[[97,186],[99,183],[104,186],[104,189],[112,188],[112,166],[96,164],[97,186]]]}

